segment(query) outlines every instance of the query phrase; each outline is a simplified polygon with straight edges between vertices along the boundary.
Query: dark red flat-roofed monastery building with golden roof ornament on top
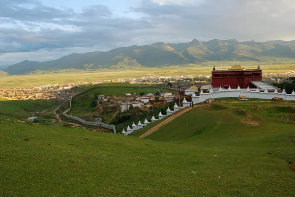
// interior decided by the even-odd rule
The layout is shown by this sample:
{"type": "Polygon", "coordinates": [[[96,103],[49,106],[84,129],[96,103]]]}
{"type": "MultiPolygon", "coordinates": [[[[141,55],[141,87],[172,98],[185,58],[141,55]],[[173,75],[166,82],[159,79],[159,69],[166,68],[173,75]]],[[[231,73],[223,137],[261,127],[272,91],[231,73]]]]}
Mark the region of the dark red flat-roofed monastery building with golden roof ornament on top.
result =
{"type": "Polygon", "coordinates": [[[262,70],[260,66],[255,70],[244,70],[240,65],[232,65],[229,70],[212,70],[212,87],[247,88],[254,87],[255,81],[262,81],[262,70]]]}

